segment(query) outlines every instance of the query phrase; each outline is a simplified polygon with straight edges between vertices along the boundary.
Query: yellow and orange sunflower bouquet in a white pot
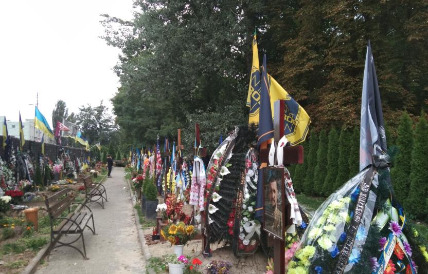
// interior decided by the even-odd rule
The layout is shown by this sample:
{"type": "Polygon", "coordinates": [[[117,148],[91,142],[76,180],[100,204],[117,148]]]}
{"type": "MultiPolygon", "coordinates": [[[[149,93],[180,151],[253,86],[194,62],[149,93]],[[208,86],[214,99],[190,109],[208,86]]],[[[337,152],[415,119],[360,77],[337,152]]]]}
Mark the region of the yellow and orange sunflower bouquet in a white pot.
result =
{"type": "Polygon", "coordinates": [[[192,225],[185,225],[183,222],[170,224],[161,229],[161,236],[171,243],[171,245],[185,245],[197,234],[197,229],[192,225]]]}

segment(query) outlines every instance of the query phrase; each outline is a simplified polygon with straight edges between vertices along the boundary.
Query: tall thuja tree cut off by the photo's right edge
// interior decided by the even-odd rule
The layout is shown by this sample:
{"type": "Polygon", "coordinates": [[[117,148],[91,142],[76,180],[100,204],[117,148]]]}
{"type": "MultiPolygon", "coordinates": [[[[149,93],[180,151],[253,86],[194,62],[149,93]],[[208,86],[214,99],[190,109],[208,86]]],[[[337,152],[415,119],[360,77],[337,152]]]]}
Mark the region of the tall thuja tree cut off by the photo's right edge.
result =
{"type": "Polygon", "coordinates": [[[412,171],[410,173],[410,191],[405,205],[416,217],[424,219],[426,212],[426,195],[428,194],[428,123],[425,113],[421,113],[415,129],[415,143],[412,149],[412,171]]]}

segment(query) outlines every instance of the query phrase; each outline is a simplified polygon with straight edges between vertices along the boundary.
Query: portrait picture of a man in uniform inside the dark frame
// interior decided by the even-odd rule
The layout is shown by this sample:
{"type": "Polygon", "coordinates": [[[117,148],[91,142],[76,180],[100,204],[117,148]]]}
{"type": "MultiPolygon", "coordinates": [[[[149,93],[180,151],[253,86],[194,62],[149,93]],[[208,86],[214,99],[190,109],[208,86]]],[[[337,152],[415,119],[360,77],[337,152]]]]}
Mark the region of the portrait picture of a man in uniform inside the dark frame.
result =
{"type": "Polygon", "coordinates": [[[266,171],[263,172],[264,228],[282,239],[282,172],[275,169],[266,171]]]}

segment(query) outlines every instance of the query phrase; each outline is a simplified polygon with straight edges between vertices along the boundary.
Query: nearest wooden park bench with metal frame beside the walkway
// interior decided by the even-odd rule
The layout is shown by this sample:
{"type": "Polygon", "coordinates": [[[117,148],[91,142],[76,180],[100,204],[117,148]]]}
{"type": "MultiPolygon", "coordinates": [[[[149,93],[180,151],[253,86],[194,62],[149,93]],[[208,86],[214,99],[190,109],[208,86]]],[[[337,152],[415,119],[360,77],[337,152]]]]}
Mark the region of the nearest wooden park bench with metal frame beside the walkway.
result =
{"type": "Polygon", "coordinates": [[[89,260],[86,257],[85,241],[83,239],[83,231],[86,227],[91,229],[92,233],[95,235],[95,225],[94,225],[94,216],[92,210],[82,203],[74,202],[75,197],[73,195],[72,189],[64,188],[57,193],[53,194],[51,197],[45,197],[46,210],[49,214],[50,220],[50,245],[47,258],[49,260],[50,251],[54,247],[69,246],[77,251],[83,256],[83,260],[89,260]],[[73,205],[77,205],[73,210],[73,205]],[[85,207],[89,211],[82,211],[82,208],[85,207]],[[63,212],[68,211],[67,215],[63,217],[63,212]],[[92,219],[92,228],[88,225],[92,219]],[[61,221],[57,226],[55,223],[61,221]],[[61,236],[66,234],[79,234],[79,237],[69,243],[64,243],[60,241],[61,236]],[[83,252],[73,246],[77,240],[82,238],[83,243],[83,252]],[[57,243],[59,245],[55,246],[57,243]]]}

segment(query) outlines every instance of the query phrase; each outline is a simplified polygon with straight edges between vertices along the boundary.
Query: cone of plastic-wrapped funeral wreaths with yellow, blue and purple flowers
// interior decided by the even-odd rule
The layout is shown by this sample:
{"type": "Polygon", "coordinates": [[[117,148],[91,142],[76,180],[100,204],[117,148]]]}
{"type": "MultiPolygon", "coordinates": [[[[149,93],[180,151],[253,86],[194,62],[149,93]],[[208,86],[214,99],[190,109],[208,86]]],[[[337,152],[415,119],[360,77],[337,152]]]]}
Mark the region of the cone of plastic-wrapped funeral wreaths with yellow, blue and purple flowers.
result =
{"type": "Polygon", "coordinates": [[[389,170],[368,167],[333,193],[315,212],[288,274],[416,274],[428,269],[427,240],[390,202],[389,170]],[[426,249],[425,249],[426,250],[426,249]]]}

